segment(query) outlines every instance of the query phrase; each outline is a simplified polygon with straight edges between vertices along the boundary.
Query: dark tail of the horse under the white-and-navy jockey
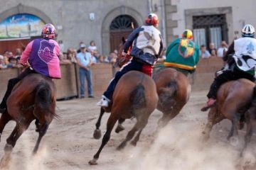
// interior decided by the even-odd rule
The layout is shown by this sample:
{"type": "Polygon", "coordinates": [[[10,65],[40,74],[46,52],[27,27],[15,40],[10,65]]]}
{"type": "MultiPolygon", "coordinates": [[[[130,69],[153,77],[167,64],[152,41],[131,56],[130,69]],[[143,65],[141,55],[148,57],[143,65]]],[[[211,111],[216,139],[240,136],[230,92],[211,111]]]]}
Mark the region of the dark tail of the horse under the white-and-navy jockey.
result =
{"type": "Polygon", "coordinates": [[[132,91],[129,101],[133,108],[142,108],[146,106],[145,88],[143,84],[138,84],[132,91]]]}

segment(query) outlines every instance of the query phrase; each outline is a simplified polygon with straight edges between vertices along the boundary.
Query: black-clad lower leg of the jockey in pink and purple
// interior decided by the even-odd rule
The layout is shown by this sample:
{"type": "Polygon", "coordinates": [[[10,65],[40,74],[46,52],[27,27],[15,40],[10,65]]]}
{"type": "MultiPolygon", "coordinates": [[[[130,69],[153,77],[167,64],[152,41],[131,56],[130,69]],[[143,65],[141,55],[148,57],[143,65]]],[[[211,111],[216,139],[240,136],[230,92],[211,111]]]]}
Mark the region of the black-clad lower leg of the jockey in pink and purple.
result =
{"type": "Polygon", "coordinates": [[[6,111],[7,99],[9,98],[12,89],[14,88],[15,84],[18,83],[18,81],[20,81],[20,79],[10,79],[8,81],[8,86],[7,86],[6,93],[4,94],[4,98],[3,98],[3,100],[1,101],[1,104],[0,104],[0,113],[4,113],[4,111],[6,111]]]}

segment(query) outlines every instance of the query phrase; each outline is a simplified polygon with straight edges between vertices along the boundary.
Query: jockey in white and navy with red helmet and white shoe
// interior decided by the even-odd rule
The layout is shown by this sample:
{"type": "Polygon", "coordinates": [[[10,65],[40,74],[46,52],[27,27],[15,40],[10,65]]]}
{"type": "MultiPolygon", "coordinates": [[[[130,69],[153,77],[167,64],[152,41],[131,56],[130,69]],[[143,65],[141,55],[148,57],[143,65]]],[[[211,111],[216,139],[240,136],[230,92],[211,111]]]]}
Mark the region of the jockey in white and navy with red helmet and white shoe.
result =
{"type": "Polygon", "coordinates": [[[102,99],[97,103],[97,106],[107,107],[112,99],[114,88],[117,81],[125,73],[136,70],[144,72],[151,77],[153,65],[163,50],[163,42],[160,31],[156,28],[159,24],[159,18],[154,13],[149,13],[146,17],[145,25],[141,26],[128,36],[124,43],[123,56],[127,55],[129,47],[132,46],[130,55],[132,60],[120,69],[110,81],[107,91],[102,96],[102,99]]]}

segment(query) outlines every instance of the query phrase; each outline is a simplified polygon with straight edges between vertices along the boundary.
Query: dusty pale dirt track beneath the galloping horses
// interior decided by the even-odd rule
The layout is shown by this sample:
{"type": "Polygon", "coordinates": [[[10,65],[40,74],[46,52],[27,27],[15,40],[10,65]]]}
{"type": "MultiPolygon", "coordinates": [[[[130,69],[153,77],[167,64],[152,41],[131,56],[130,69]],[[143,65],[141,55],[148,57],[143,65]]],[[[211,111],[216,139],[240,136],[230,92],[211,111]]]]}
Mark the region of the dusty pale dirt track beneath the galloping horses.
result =
{"type": "MultiPolygon", "coordinates": [[[[210,134],[210,141],[201,143],[201,132],[207,120],[207,113],[200,111],[206,101],[206,91],[193,92],[190,101],[181,113],[171,120],[152,144],[157,120],[161,117],[159,111],[149,118],[149,123],[142,132],[137,147],[127,145],[122,151],[115,147],[127,135],[135,120],[124,123],[126,130],[119,134],[112,132],[110,142],[102,150],[98,165],[90,166],[87,162],[92,159],[101,140],[92,138],[95,123],[100,113],[96,106],[99,98],[76,99],[58,102],[58,115],[61,120],[53,120],[46,136],[41,142],[40,151],[36,157],[31,152],[38,134],[32,123],[30,128],[18,140],[12,153],[10,169],[235,169],[235,165],[247,161],[255,162],[255,136],[245,159],[239,159],[238,154],[242,147],[244,132],[240,131],[240,144],[230,145],[225,140],[230,128],[228,120],[215,125],[210,134]]],[[[101,130],[104,134],[108,118],[106,113],[102,119],[101,130]]],[[[14,123],[9,123],[1,136],[0,155],[14,123]]]]}

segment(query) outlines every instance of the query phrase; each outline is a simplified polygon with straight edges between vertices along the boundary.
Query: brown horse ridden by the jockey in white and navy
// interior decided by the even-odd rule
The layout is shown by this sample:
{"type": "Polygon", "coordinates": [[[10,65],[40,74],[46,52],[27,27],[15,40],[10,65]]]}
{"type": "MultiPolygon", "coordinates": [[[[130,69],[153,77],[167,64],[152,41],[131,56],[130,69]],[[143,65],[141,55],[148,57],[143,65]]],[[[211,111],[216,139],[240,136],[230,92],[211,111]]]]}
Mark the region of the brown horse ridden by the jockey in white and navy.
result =
{"type": "Polygon", "coordinates": [[[100,157],[100,152],[103,147],[110,140],[110,135],[114,124],[119,122],[116,132],[123,130],[120,128],[120,124],[128,118],[137,118],[137,123],[135,123],[132,130],[127,134],[127,137],[122,141],[122,143],[117,147],[117,149],[123,149],[129,140],[132,140],[135,133],[137,135],[132,140],[132,145],[137,145],[139,141],[139,136],[142,130],[148,123],[149,115],[154,111],[158,103],[158,95],[156,93],[156,85],[148,75],[138,72],[130,71],[124,74],[121,79],[119,79],[116,88],[114,89],[114,94],[112,97],[112,102],[107,108],[100,109],[100,116],[96,123],[96,130],[94,132],[95,139],[100,138],[100,121],[102,115],[105,112],[111,112],[110,117],[107,120],[107,131],[102,138],[102,144],[100,149],[94,155],[93,159],[90,160],[89,164],[97,164],[97,159],[100,157]]]}

